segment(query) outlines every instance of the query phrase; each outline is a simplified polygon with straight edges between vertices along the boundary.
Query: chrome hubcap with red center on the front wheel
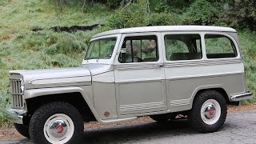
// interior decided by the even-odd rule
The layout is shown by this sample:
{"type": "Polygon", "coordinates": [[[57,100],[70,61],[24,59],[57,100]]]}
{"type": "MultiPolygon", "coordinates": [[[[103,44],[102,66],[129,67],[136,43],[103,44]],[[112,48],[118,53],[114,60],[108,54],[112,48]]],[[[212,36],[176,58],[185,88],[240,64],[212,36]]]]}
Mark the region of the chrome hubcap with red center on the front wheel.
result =
{"type": "Polygon", "coordinates": [[[55,138],[62,138],[67,131],[66,122],[62,120],[56,120],[50,124],[50,134],[55,138]]]}

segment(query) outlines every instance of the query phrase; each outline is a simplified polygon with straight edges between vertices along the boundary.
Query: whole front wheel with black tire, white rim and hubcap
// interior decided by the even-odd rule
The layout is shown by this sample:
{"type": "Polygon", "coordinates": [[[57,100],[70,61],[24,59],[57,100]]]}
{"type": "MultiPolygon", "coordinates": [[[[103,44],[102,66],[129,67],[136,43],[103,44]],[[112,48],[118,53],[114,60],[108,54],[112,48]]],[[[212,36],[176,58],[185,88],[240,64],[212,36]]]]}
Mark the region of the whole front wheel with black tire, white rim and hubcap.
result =
{"type": "Polygon", "coordinates": [[[30,120],[30,138],[37,143],[78,143],[82,134],[82,115],[66,102],[43,105],[30,120]]]}

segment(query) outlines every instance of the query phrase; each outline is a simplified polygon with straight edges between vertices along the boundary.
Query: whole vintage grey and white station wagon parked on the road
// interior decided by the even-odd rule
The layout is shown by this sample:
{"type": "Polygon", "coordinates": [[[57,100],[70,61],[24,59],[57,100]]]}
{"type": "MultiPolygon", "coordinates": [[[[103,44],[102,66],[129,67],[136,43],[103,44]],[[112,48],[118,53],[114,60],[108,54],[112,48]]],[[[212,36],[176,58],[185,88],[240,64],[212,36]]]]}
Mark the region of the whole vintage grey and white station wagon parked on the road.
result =
{"type": "Polygon", "coordinates": [[[188,118],[198,132],[218,130],[226,105],[252,98],[236,30],[147,26],[91,40],[82,66],[10,71],[14,126],[38,143],[76,143],[83,123],[150,116],[188,118]]]}

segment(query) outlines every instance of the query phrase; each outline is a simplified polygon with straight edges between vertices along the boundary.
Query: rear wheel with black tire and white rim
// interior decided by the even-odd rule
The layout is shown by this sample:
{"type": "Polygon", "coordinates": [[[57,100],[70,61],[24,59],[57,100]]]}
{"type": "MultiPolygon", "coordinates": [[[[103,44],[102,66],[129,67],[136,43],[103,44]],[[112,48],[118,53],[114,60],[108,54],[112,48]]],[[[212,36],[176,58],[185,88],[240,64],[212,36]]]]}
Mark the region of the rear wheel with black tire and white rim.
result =
{"type": "MultiPolygon", "coordinates": [[[[209,106],[209,105],[206,105],[206,106],[209,106]]],[[[210,114],[210,110],[209,112],[207,111],[206,113],[210,114]]],[[[222,94],[220,94],[216,90],[202,91],[194,98],[193,107],[192,107],[192,110],[190,110],[188,118],[190,120],[190,126],[192,126],[194,130],[200,133],[211,133],[219,130],[226,120],[225,98],[222,96],[222,94]],[[216,110],[214,110],[214,116],[213,116],[214,118],[209,118],[208,116],[210,115],[205,115],[205,113],[201,114],[201,109],[204,110],[204,107],[202,106],[204,106],[206,101],[215,102],[214,106],[216,106],[216,110]],[[219,107],[220,110],[218,110],[217,107],[219,107]],[[207,117],[208,119],[210,119],[208,123],[206,122],[207,117]],[[206,120],[203,120],[203,119],[206,119],[206,120]],[[210,123],[210,122],[214,122],[214,123],[210,123]]]]}

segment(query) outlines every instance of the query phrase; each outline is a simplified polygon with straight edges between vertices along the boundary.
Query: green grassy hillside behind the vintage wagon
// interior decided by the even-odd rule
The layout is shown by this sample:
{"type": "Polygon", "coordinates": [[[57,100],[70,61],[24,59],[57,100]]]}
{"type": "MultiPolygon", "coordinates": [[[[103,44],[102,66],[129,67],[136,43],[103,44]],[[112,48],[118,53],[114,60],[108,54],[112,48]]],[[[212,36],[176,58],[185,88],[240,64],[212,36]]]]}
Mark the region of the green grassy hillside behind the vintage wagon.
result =
{"type": "MultiPolygon", "coordinates": [[[[56,16],[50,0],[0,1],[0,125],[10,126],[2,114],[10,106],[8,71],[78,66],[92,35],[104,30],[54,33],[52,26],[104,24],[112,14],[106,6],[81,3],[64,6],[56,16]],[[43,29],[38,32],[34,28],[43,29]]],[[[247,83],[256,94],[256,34],[240,31],[239,38],[246,65],[247,83]]],[[[256,102],[256,97],[248,102],[256,102]]]]}

